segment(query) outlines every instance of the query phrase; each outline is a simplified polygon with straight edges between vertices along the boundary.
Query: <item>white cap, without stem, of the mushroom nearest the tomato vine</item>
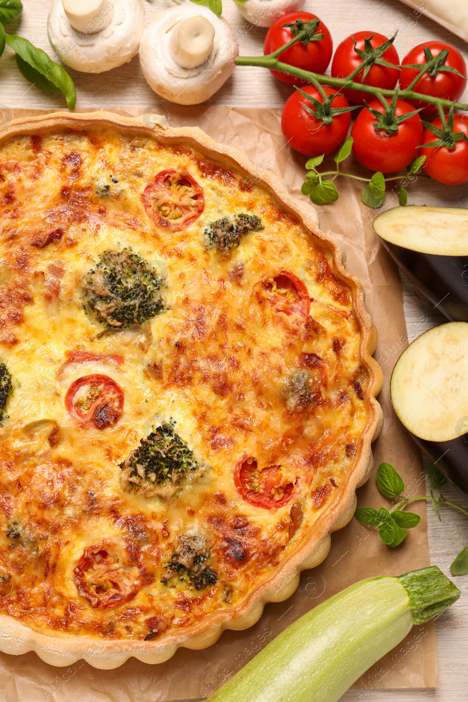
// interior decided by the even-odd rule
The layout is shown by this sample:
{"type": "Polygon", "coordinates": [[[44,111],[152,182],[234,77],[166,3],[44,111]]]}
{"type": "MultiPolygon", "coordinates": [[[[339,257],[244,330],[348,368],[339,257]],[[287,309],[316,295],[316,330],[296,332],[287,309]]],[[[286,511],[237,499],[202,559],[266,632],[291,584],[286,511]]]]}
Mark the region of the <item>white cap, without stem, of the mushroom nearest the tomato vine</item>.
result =
{"type": "Polygon", "coordinates": [[[161,98],[178,105],[198,105],[208,100],[232,74],[237,55],[239,46],[225,18],[191,0],[156,15],[140,42],[140,63],[147,83],[161,98]],[[171,29],[178,31],[177,25],[196,16],[213,25],[213,48],[201,66],[182,68],[171,53],[171,29]]]}

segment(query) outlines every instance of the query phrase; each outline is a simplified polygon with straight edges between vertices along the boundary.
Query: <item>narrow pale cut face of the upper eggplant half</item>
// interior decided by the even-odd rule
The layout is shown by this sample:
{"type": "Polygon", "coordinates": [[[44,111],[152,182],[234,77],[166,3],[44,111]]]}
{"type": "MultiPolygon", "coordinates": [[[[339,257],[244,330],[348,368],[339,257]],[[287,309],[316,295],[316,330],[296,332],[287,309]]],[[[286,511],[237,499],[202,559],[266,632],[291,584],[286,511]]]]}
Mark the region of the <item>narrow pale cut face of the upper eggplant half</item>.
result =
{"type": "Polygon", "coordinates": [[[407,205],[379,215],[375,233],[389,244],[432,256],[468,256],[468,209],[407,205]]]}

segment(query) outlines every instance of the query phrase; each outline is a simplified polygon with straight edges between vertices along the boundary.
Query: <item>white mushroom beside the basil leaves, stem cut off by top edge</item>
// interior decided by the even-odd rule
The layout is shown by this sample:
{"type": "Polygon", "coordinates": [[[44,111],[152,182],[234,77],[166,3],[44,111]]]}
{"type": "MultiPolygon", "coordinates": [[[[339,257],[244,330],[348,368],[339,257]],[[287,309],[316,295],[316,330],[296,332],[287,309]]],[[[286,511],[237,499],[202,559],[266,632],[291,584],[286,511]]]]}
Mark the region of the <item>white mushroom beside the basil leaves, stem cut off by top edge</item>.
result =
{"type": "Polygon", "coordinates": [[[53,0],[47,21],[58,58],[84,73],[102,73],[130,61],[145,27],[142,0],[53,0]]]}

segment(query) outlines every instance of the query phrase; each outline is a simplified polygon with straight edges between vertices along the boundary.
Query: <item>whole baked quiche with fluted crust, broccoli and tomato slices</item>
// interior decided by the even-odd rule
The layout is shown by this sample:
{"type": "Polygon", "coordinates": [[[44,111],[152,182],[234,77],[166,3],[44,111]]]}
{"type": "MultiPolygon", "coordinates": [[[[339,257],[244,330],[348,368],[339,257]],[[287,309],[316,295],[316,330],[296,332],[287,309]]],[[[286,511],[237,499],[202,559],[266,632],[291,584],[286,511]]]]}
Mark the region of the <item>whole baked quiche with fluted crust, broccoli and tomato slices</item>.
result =
{"type": "Polygon", "coordinates": [[[0,649],[113,668],[246,628],[351,519],[375,328],[314,209],[195,128],[0,143],[0,649]]]}

